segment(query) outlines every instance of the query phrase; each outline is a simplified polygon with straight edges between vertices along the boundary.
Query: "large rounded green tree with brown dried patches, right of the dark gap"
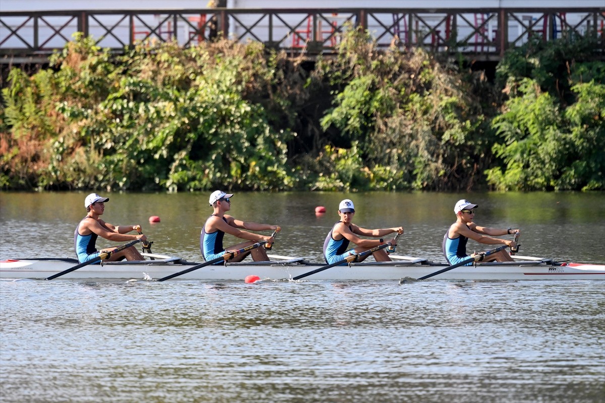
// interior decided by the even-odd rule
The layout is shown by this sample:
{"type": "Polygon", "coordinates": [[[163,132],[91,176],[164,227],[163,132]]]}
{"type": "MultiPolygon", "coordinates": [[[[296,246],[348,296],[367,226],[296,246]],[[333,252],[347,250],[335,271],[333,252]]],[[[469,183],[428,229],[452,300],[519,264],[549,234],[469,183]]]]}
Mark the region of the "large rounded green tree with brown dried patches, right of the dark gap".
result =
{"type": "Polygon", "coordinates": [[[374,189],[470,189],[491,144],[473,80],[420,49],[378,51],[352,31],[319,71],[333,86],[322,129],[336,146],[359,143],[374,189]]]}

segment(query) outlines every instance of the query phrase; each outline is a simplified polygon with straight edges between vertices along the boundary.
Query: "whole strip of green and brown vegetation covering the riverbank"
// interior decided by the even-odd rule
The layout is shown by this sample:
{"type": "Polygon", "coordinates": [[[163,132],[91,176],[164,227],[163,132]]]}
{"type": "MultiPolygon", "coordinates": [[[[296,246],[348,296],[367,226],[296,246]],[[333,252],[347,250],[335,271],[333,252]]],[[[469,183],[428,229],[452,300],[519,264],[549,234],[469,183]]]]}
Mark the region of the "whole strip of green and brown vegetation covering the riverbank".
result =
{"type": "Polygon", "coordinates": [[[604,190],[598,45],[532,41],[489,81],[361,31],[313,68],[258,42],[114,56],[75,37],[50,68],[11,70],[0,187],[604,190]]]}

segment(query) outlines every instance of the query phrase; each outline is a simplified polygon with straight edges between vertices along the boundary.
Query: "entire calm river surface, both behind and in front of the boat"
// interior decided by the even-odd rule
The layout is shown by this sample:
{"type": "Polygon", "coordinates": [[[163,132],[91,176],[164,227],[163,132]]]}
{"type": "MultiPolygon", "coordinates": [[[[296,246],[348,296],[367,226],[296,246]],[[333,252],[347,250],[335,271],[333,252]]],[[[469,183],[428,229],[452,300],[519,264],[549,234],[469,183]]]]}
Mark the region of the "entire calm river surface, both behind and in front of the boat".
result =
{"type": "MultiPolygon", "coordinates": [[[[73,257],[86,195],[0,193],[0,259],[73,257]]],[[[107,196],[103,219],[200,260],[209,192],[107,196]]],[[[443,260],[468,198],[521,254],[605,261],[603,193],[238,193],[232,213],[320,260],[343,198],[359,225],[404,225],[401,254],[443,260]]],[[[604,335],[600,281],[2,280],[0,401],[603,403],[604,335]]]]}

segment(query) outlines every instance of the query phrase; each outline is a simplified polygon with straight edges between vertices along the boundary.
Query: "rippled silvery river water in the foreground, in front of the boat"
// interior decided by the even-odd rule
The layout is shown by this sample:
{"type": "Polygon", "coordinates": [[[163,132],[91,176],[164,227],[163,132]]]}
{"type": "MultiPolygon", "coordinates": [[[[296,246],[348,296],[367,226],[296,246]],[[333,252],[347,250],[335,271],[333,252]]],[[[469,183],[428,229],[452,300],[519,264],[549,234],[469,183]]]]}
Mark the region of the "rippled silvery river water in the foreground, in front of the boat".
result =
{"type": "Polygon", "coordinates": [[[602,282],[0,281],[2,402],[600,402],[602,282]]]}

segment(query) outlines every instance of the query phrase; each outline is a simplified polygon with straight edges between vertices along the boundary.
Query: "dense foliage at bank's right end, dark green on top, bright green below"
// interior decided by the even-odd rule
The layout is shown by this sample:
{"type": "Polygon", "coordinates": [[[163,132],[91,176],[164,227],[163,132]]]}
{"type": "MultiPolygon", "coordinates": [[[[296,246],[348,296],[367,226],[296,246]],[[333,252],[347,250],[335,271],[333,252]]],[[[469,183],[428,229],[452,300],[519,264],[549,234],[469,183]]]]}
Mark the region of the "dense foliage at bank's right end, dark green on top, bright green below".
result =
{"type": "Polygon", "coordinates": [[[605,189],[605,64],[590,61],[595,48],[590,36],[535,40],[500,63],[510,98],[492,118],[505,161],[486,171],[494,189],[605,189]]]}

